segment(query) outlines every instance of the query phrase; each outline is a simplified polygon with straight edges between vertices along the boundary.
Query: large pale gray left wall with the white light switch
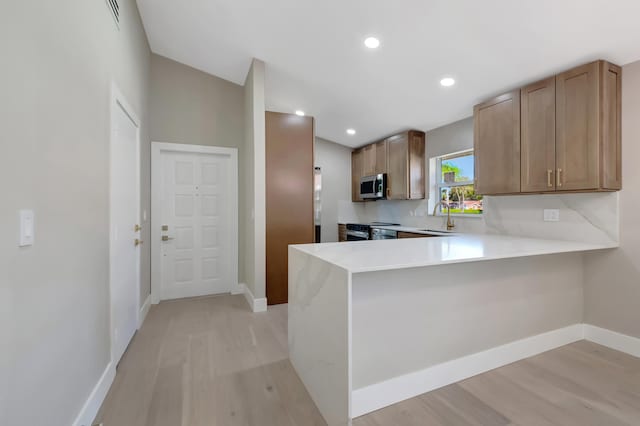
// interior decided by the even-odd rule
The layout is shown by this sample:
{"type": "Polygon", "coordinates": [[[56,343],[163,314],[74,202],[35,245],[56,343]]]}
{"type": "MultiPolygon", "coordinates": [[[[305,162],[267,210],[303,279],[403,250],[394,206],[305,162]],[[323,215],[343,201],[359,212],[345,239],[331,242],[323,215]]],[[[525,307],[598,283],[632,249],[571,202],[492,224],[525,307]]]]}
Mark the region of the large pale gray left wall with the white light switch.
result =
{"type": "Polygon", "coordinates": [[[112,81],[142,122],[143,208],[149,204],[150,52],[135,2],[120,3],[118,31],[104,1],[3,2],[3,425],[70,425],[110,360],[112,81]],[[23,249],[21,208],[36,214],[35,245],[23,249]]]}

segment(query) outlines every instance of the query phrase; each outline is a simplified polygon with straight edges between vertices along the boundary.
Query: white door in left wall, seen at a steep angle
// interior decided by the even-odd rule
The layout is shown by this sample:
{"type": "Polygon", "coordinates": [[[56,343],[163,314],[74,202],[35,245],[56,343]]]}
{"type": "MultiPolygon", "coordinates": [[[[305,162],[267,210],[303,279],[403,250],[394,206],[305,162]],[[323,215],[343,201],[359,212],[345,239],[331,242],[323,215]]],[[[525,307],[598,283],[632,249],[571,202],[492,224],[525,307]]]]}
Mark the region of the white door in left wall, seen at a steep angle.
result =
{"type": "Polygon", "coordinates": [[[138,328],[138,127],[116,104],[110,152],[110,291],[112,356],[117,363],[138,328]]]}

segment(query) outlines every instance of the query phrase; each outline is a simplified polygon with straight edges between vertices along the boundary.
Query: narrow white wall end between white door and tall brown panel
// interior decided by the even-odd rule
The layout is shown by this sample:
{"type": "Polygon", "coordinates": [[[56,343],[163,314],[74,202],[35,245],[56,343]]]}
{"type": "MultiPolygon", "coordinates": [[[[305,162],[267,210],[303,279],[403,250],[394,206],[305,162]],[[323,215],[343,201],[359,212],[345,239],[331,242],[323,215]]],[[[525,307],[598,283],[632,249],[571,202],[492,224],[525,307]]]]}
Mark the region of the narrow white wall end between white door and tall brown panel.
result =
{"type": "Polygon", "coordinates": [[[255,298],[266,297],[265,66],[254,59],[244,86],[244,281],[255,298]]]}

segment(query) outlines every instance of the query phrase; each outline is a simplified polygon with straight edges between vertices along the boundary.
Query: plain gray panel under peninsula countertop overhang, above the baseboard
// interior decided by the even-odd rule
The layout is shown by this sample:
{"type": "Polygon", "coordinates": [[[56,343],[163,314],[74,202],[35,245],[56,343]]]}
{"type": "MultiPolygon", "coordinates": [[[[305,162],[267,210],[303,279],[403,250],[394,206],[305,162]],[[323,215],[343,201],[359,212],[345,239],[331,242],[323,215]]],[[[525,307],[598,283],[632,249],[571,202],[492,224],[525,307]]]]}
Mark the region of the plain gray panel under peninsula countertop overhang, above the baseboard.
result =
{"type": "Polygon", "coordinates": [[[353,389],[583,318],[582,254],[357,273],[353,389]]]}

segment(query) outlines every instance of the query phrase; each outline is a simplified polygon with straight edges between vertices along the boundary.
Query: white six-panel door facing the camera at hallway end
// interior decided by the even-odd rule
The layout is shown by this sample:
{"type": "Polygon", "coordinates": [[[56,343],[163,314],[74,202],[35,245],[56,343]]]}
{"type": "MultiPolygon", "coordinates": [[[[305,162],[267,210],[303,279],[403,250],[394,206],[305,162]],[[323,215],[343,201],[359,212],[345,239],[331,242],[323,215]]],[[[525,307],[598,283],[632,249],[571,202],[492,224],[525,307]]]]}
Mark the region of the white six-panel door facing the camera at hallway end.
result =
{"type": "Polygon", "coordinates": [[[229,162],[162,153],[162,300],[231,291],[229,162]]]}

